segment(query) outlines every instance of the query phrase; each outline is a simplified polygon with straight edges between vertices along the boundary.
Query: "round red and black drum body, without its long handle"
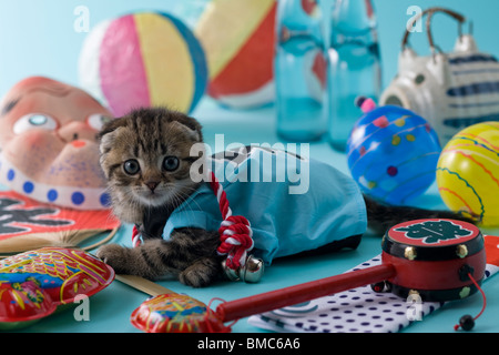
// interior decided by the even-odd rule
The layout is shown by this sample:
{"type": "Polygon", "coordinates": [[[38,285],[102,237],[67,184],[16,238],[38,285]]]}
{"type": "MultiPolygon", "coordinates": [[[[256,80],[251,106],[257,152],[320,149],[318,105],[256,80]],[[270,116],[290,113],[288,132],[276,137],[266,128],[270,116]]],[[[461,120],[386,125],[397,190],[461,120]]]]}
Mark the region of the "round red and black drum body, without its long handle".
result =
{"type": "Polygon", "coordinates": [[[383,239],[383,265],[393,268],[386,284],[393,293],[424,301],[465,298],[485,275],[483,236],[472,224],[418,220],[391,227],[383,239]]]}

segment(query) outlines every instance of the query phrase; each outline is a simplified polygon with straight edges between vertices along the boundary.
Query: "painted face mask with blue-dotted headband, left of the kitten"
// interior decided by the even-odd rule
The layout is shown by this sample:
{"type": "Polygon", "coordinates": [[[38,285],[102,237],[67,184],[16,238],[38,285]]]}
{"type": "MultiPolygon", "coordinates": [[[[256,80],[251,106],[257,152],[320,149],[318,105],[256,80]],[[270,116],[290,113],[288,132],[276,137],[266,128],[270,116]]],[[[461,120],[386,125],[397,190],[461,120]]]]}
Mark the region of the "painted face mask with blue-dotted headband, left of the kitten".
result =
{"type": "Polygon", "coordinates": [[[22,80],[0,103],[0,183],[39,202],[106,209],[96,134],[111,116],[78,88],[22,80]]]}

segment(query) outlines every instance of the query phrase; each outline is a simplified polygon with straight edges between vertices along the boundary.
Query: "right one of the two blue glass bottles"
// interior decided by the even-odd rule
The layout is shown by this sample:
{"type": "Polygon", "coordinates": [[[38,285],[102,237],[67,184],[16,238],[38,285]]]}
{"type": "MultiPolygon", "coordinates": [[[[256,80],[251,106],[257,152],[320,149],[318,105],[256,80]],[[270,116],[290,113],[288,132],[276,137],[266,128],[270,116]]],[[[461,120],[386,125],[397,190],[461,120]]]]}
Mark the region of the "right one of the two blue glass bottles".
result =
{"type": "Polygon", "coordinates": [[[332,12],[328,141],[338,151],[361,113],[357,97],[375,101],[381,92],[381,64],[371,0],[334,0],[332,12]]]}

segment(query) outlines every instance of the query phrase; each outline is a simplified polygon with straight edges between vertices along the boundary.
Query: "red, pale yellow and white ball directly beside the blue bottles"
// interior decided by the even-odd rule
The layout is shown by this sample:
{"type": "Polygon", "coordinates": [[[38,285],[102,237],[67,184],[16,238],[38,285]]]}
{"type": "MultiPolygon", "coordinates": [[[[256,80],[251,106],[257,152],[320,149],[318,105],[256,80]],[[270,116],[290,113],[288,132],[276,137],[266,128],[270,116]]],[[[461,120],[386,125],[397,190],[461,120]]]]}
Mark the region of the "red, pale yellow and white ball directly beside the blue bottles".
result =
{"type": "Polygon", "coordinates": [[[274,101],[275,0],[213,0],[195,34],[210,71],[207,94],[231,108],[274,101]]]}

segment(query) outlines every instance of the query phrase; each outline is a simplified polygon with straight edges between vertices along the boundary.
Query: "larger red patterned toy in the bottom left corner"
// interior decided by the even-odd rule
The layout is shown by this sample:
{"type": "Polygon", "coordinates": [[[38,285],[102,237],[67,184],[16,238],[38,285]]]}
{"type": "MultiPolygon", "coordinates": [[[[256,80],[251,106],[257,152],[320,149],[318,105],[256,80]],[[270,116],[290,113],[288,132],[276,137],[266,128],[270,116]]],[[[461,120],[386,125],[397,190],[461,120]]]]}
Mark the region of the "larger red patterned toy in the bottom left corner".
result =
{"type": "Polygon", "coordinates": [[[114,271],[80,251],[44,247],[0,261],[0,328],[47,317],[75,297],[92,296],[114,280],[114,271]]]}

